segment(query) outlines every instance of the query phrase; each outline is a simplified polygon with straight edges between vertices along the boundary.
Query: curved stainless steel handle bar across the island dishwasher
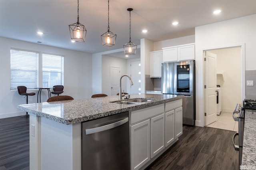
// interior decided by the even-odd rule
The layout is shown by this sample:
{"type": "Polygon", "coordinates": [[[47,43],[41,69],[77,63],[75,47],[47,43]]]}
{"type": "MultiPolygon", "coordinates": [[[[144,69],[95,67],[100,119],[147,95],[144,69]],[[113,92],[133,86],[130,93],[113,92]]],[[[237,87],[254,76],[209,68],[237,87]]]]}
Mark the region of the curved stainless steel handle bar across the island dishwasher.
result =
{"type": "Polygon", "coordinates": [[[122,119],[121,121],[110,123],[108,125],[104,125],[104,126],[96,127],[96,128],[88,128],[88,129],[85,129],[85,134],[92,134],[92,133],[102,132],[104,130],[108,130],[108,129],[111,129],[111,128],[121,126],[121,125],[123,125],[124,123],[126,123],[128,121],[129,121],[129,118],[126,117],[126,118],[122,119]]]}

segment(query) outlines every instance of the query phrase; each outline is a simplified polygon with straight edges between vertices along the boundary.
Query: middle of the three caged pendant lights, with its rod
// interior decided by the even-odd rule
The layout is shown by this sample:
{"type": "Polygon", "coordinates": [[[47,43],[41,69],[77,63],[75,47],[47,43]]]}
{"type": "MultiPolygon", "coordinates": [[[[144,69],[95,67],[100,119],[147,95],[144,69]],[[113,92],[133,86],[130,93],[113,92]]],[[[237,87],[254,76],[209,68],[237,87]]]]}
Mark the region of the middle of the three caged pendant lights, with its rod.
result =
{"type": "Polygon", "coordinates": [[[116,34],[109,30],[109,0],[108,0],[108,31],[101,35],[102,45],[111,47],[116,43],[116,34]]]}

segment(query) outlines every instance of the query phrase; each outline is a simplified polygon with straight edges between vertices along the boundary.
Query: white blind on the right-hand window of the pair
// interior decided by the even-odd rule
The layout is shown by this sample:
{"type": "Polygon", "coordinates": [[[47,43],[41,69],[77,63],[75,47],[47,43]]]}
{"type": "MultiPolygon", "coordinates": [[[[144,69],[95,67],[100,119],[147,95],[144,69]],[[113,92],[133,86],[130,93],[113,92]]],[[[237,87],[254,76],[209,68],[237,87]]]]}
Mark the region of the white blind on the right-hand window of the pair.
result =
{"type": "Polygon", "coordinates": [[[64,57],[43,54],[43,87],[64,85],[64,57]]]}

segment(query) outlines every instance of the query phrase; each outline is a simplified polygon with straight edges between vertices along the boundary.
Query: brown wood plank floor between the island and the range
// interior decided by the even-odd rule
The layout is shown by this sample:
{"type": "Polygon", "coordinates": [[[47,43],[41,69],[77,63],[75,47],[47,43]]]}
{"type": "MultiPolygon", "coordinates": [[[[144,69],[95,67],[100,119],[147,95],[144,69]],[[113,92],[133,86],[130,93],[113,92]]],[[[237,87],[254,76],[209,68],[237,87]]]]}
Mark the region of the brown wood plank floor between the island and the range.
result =
{"type": "MultiPolygon", "coordinates": [[[[183,126],[183,134],[147,170],[239,170],[235,132],[183,126]]],[[[238,141],[236,141],[238,143],[238,141]]]]}

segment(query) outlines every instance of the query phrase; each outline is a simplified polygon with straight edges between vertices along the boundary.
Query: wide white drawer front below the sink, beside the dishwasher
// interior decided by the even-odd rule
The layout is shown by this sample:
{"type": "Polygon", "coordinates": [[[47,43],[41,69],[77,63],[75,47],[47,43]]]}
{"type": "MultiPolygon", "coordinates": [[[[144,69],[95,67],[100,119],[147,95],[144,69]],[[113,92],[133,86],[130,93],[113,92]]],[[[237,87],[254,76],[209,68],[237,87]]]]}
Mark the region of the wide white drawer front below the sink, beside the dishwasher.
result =
{"type": "Polygon", "coordinates": [[[161,113],[164,113],[164,103],[152,107],[147,107],[145,109],[131,111],[130,121],[131,124],[133,124],[138,121],[142,121],[144,119],[159,115],[161,113]]]}

